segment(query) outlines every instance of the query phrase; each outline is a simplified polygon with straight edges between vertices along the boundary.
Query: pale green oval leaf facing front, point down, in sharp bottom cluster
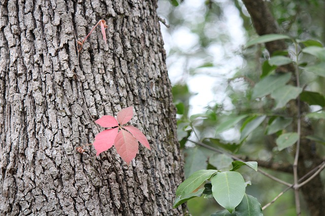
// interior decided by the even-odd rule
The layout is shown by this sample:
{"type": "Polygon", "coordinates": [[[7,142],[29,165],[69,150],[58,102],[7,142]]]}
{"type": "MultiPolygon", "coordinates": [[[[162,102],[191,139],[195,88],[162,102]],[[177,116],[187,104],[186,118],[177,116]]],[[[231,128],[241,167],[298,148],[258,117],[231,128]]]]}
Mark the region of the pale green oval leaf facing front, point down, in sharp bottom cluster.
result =
{"type": "Polygon", "coordinates": [[[232,212],[244,197],[245,181],[239,172],[218,172],[211,178],[211,184],[214,199],[229,212],[232,212]]]}

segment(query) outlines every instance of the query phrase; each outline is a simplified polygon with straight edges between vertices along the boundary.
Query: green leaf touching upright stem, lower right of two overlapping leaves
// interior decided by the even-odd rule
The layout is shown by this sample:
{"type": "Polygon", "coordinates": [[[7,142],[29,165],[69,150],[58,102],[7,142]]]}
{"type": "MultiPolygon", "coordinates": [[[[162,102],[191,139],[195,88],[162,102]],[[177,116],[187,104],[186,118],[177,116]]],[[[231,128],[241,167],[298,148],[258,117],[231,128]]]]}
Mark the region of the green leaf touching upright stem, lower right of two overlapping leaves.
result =
{"type": "Polygon", "coordinates": [[[300,87],[294,87],[292,85],[284,85],[283,87],[274,90],[271,97],[274,98],[276,106],[274,109],[284,107],[290,100],[296,99],[303,91],[300,87]]]}

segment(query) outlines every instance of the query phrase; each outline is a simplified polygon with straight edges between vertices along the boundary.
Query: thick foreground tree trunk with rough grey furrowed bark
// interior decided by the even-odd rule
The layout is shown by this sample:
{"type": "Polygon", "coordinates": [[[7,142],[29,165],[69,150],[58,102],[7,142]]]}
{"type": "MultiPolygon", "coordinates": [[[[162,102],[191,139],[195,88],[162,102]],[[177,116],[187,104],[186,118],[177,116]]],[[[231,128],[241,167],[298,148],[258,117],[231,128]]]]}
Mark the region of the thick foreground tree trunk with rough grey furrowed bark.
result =
{"type": "Polygon", "coordinates": [[[175,109],[156,1],[0,1],[0,215],[182,215],[175,109]],[[100,19],[100,28],[79,53],[100,19]],[[83,96],[84,95],[84,96],[83,96]],[[95,157],[93,122],[134,106],[152,151],[95,157]]]}

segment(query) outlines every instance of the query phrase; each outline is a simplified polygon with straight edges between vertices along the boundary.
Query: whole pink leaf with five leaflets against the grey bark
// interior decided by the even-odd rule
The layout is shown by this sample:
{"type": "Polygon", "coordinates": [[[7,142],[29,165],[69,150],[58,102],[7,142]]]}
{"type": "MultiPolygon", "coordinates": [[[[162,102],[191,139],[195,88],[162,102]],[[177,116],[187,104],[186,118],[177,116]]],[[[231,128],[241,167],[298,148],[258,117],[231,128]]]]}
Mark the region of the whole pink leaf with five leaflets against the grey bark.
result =
{"type": "Polygon", "coordinates": [[[123,124],[133,117],[133,107],[127,107],[117,113],[117,120],[110,115],[104,115],[95,122],[103,127],[113,127],[102,131],[95,137],[93,146],[96,156],[115,145],[117,153],[129,165],[139,152],[139,143],[150,150],[146,136],[135,126],[123,124]]]}

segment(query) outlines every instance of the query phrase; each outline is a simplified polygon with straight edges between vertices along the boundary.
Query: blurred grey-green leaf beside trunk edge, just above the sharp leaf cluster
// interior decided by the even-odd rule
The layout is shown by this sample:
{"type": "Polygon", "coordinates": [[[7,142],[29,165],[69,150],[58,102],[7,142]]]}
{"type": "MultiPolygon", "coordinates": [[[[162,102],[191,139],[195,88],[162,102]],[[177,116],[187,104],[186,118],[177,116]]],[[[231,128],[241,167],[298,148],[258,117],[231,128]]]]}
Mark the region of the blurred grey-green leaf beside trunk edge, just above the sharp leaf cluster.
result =
{"type": "Polygon", "coordinates": [[[185,156],[185,178],[187,179],[193,172],[207,168],[207,157],[201,148],[194,147],[184,150],[185,156]]]}

